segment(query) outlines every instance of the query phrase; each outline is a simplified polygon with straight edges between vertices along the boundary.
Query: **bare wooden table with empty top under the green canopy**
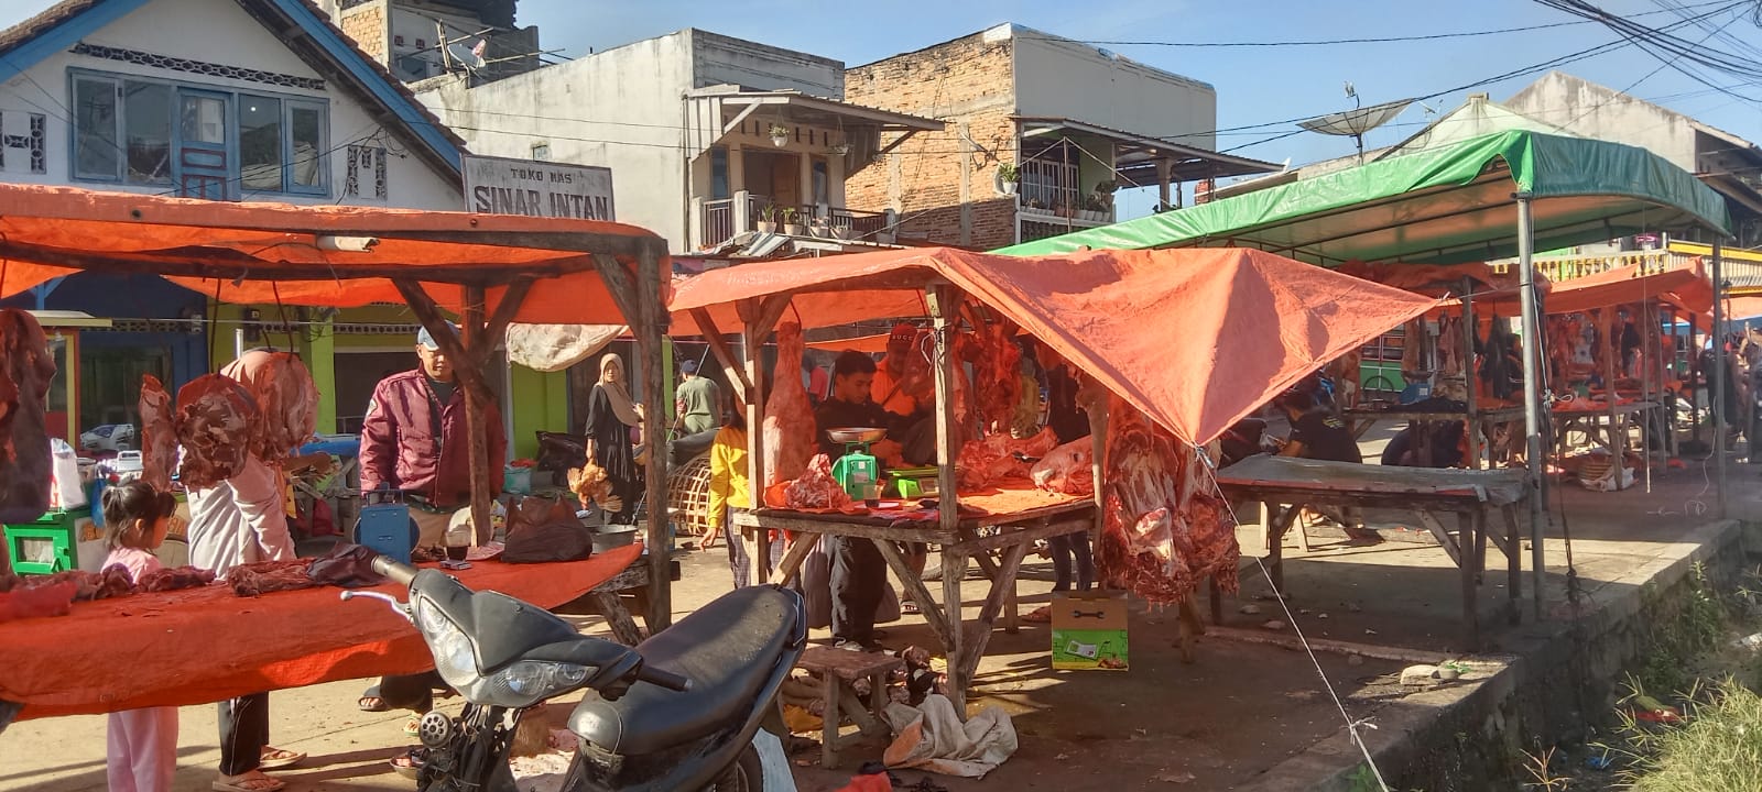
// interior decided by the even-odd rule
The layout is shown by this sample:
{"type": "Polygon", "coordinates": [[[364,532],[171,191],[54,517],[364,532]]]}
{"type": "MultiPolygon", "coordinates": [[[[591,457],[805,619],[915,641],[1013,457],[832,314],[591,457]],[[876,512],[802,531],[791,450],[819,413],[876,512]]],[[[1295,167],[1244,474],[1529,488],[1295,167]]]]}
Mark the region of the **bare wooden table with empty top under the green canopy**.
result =
{"type": "Polygon", "coordinates": [[[1515,625],[1522,598],[1522,539],[1517,505],[1529,496],[1521,470],[1434,470],[1383,465],[1353,465],[1283,456],[1251,456],[1218,472],[1218,484],[1230,500],[1267,505],[1267,551],[1272,586],[1284,595],[1281,542],[1299,512],[1309,505],[1401,509],[1418,514],[1438,537],[1462,574],[1462,635],[1468,649],[1480,646],[1477,581],[1485,570],[1491,539],[1507,560],[1507,616],[1515,625]],[[1457,532],[1438,521],[1440,512],[1457,516],[1457,532]],[[1487,524],[1499,519],[1505,532],[1487,524]]]}

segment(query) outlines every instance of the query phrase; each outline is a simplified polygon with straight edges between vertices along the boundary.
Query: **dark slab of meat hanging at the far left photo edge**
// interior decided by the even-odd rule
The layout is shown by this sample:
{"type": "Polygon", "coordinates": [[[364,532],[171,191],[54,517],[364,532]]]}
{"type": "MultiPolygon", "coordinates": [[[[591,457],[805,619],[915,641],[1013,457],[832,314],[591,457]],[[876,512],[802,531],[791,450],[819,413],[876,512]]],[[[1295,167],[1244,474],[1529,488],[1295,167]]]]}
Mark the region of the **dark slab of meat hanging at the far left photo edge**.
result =
{"type": "MultiPolygon", "coordinates": [[[[42,326],[0,308],[0,521],[30,523],[49,510],[49,424],[44,415],[55,357],[42,326]]],[[[0,544],[0,561],[5,561],[0,544]]],[[[9,570],[11,563],[0,563],[9,570]]]]}

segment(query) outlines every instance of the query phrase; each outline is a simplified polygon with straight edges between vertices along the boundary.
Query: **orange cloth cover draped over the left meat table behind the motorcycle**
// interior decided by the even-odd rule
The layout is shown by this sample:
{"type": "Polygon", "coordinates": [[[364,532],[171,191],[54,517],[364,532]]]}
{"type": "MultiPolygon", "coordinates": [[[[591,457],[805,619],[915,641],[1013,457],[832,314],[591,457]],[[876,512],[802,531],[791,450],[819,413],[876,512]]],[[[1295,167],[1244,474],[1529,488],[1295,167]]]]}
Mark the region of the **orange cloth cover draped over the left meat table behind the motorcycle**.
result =
{"type": "MultiPolygon", "coordinates": [[[[455,572],[478,591],[557,607],[624,572],[641,546],[581,561],[479,561],[455,572]]],[[[433,667],[416,627],[335,586],[236,597],[229,586],[79,602],[69,616],[0,625],[0,699],[19,720],[190,706],[433,667]]],[[[382,591],[405,598],[407,590],[382,591]]]]}

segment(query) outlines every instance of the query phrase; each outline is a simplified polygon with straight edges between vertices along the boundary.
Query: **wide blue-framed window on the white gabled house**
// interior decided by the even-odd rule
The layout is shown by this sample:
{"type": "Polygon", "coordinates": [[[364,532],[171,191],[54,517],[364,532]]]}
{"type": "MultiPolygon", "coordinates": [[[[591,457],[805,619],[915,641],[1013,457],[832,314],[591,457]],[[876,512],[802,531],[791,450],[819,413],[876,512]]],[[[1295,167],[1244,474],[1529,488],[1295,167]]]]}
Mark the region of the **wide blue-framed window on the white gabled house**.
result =
{"type": "Polygon", "coordinates": [[[70,72],[72,176],[190,197],[329,195],[329,104],[70,72]],[[241,195],[243,194],[243,195],[241,195]]]}

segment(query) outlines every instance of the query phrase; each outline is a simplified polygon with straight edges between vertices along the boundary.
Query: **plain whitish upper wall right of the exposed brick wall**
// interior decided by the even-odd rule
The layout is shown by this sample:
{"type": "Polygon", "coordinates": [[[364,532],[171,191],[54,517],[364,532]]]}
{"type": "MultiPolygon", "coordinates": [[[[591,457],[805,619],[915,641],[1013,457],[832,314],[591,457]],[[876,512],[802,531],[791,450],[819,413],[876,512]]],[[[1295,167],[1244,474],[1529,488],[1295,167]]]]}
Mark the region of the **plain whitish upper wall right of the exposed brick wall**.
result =
{"type": "Polygon", "coordinates": [[[1092,46],[1015,25],[985,32],[1015,39],[1015,113],[1070,118],[1182,146],[1216,150],[1218,92],[1092,46]]]}

